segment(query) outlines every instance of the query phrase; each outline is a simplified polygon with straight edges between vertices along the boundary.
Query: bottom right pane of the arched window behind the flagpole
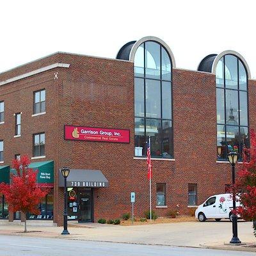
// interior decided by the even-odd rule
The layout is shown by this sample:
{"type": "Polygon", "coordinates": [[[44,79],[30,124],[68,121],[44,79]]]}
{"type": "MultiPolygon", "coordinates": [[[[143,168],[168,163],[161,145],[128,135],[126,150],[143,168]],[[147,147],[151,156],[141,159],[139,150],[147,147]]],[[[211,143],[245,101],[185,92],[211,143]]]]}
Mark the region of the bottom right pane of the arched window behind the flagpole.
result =
{"type": "Polygon", "coordinates": [[[163,120],[163,157],[173,157],[173,131],[172,121],[163,120]]]}

